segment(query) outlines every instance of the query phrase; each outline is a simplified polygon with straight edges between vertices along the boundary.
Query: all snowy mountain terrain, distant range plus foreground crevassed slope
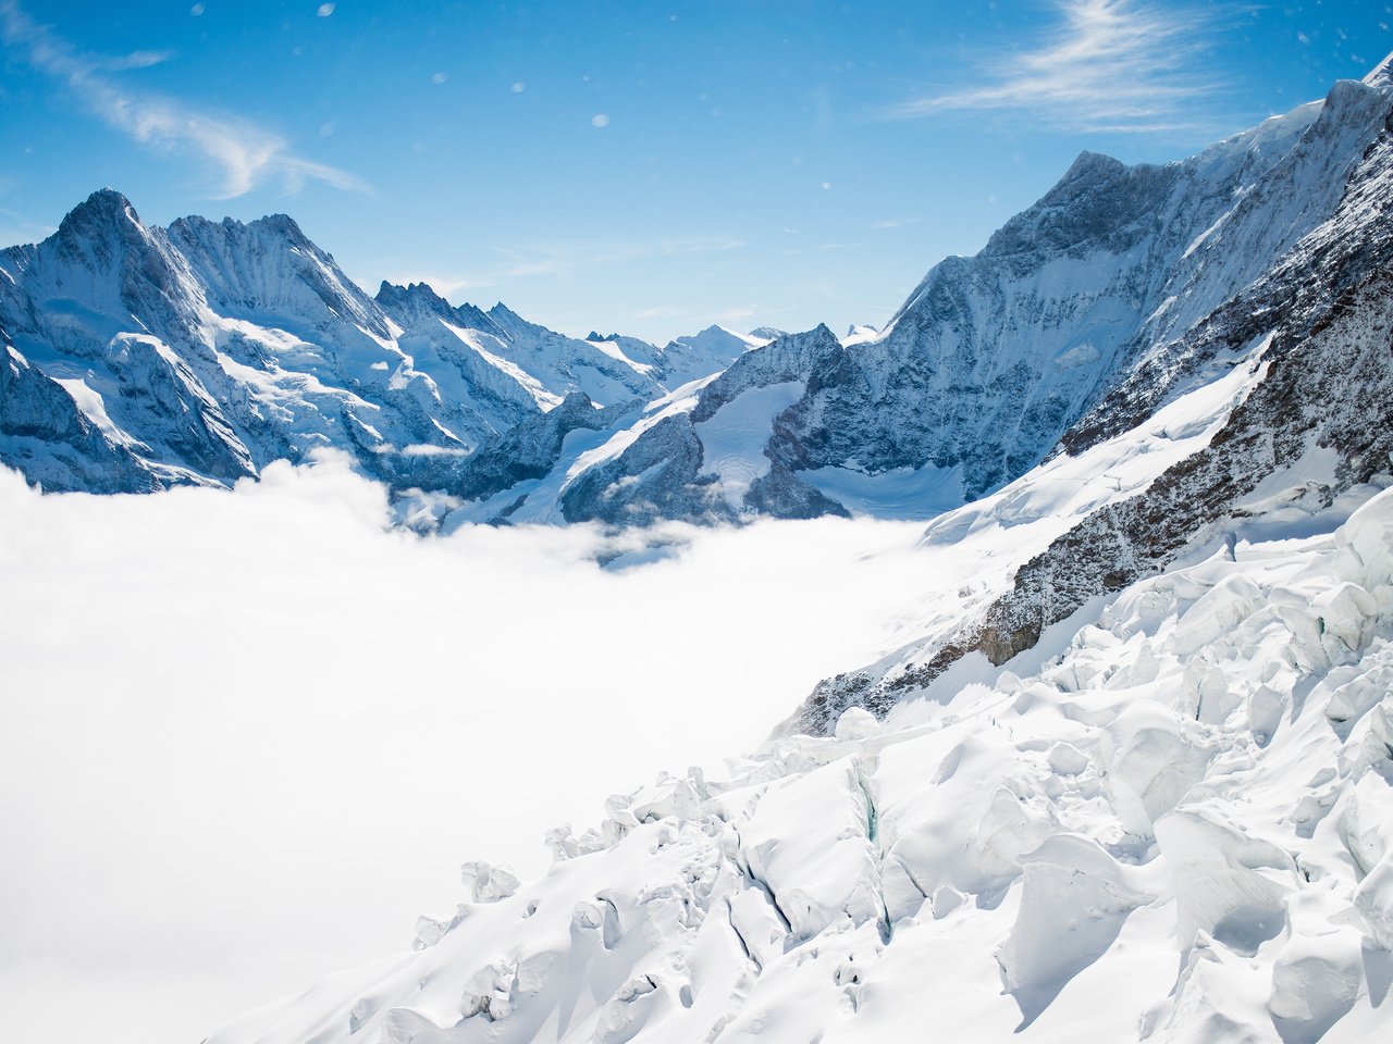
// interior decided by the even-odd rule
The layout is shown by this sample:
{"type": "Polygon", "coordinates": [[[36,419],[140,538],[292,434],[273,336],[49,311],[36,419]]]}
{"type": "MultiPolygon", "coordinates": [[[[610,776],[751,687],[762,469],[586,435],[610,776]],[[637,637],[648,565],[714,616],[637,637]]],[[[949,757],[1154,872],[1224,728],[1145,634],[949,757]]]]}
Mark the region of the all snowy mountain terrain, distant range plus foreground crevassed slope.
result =
{"type": "Polygon", "coordinates": [[[566,337],[110,191],[0,252],[0,461],[46,489],[334,447],[423,529],[926,519],[898,649],[724,778],[612,796],[538,880],[465,863],[410,951],[209,1040],[1386,1037],[1390,200],[1385,63],[1085,153],[844,338],[566,337]]]}

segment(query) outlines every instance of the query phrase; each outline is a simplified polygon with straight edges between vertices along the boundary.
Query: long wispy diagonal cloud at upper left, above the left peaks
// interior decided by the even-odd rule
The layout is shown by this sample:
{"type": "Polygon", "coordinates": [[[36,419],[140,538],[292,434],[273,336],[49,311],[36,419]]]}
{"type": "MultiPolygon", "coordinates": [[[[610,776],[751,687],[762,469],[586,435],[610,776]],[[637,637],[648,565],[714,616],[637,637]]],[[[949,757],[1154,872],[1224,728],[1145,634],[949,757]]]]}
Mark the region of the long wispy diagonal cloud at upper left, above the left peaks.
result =
{"type": "Polygon", "coordinates": [[[33,68],[65,81],[93,113],[137,142],[209,163],[217,173],[220,199],[245,195],[267,181],[279,181],[287,192],[298,192],[311,181],[350,192],[369,191],[355,174],[294,155],[284,138],[249,120],[130,90],[110,77],[157,65],[171,57],[169,52],[142,50],[116,58],[82,54],[35,22],[17,0],[0,0],[0,39],[33,68]]]}

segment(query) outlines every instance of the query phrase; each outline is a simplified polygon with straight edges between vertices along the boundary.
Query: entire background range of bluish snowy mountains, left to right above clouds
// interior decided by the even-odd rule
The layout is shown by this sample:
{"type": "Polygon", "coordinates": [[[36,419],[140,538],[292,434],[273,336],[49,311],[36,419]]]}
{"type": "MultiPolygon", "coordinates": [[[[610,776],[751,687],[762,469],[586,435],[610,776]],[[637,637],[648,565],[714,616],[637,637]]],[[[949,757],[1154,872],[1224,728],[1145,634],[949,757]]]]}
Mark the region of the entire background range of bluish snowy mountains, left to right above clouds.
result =
{"type": "Polygon", "coordinates": [[[166,231],[99,192],[0,253],[0,459],[47,489],[149,490],[337,447],[398,496],[423,490],[404,501],[422,523],[932,518],[1135,426],[1361,280],[1387,242],[1367,187],[1390,107],[1376,72],[1188,160],[1085,153],[883,330],[840,341],[713,326],[657,348],[423,284],[371,298],[288,217],[166,231]],[[26,387],[63,395],[21,406],[21,362],[26,387]],[[603,426],[557,443],[542,425],[524,450],[518,426],[573,393],[609,408],[603,426]],[[464,468],[503,445],[525,477],[464,468]]]}

